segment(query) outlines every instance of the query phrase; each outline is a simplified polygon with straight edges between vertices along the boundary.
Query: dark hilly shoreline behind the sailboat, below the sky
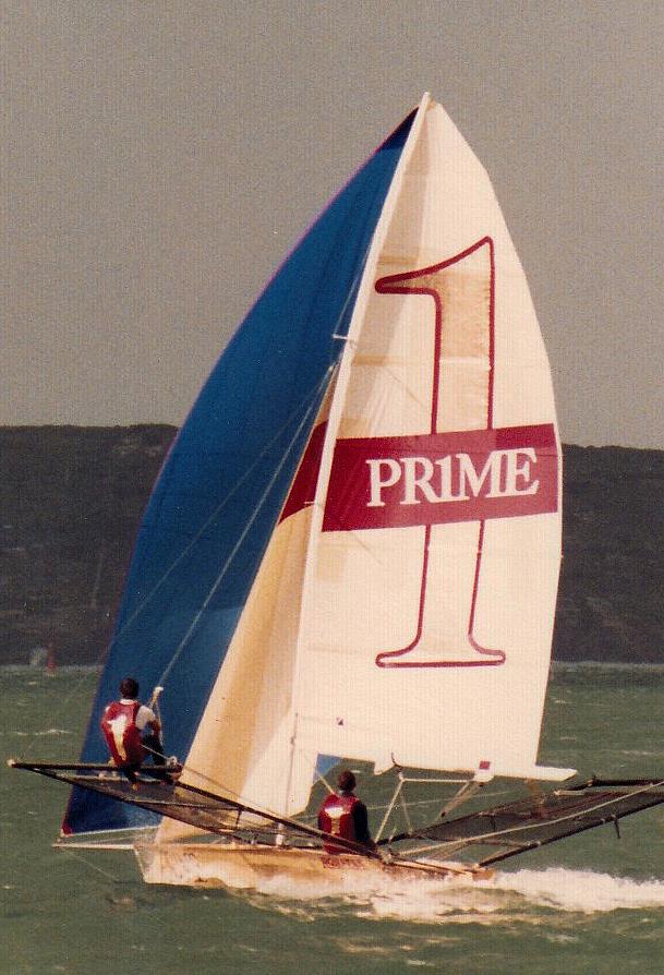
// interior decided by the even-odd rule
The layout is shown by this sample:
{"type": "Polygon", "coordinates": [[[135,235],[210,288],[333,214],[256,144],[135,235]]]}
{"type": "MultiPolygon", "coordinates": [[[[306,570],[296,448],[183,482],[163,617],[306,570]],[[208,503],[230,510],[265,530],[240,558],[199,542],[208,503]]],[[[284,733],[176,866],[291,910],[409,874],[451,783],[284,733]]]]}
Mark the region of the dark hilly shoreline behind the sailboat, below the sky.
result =
{"type": "MultiPolygon", "coordinates": [[[[176,430],[0,428],[0,663],[105,653],[176,430]]],[[[565,447],[554,657],[664,663],[664,452],[565,447]]]]}

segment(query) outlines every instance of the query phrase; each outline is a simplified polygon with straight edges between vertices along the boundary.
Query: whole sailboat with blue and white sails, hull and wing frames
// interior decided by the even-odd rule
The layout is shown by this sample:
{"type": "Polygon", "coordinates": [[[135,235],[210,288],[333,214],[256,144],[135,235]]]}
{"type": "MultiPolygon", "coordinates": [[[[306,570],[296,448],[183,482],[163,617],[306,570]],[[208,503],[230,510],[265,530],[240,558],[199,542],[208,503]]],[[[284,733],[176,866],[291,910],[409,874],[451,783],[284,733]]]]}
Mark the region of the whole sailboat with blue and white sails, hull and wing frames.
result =
{"type": "Polygon", "coordinates": [[[657,778],[538,765],[560,478],[523,269],[426,94],[268,284],[174,441],[81,761],[13,761],[73,786],[61,842],[124,844],[157,883],[468,878],[663,803],[657,778]],[[108,766],[99,720],[128,674],[160,691],[171,784],[108,766]],[[375,850],[330,854],[304,815],[340,759],[394,777],[375,850]],[[496,782],[527,787],[486,807],[496,782]],[[409,814],[413,783],[445,795],[433,821],[409,814]]]}

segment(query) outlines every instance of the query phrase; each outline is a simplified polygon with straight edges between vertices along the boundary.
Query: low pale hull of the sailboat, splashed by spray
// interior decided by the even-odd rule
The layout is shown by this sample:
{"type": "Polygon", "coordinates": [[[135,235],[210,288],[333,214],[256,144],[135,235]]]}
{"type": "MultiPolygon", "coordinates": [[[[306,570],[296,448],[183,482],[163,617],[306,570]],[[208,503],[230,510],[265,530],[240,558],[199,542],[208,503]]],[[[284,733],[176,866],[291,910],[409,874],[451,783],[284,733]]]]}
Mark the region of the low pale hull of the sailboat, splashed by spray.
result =
{"type": "Polygon", "coordinates": [[[330,856],[319,850],[291,850],[244,843],[145,843],[134,846],[147,883],[180,887],[261,887],[276,878],[295,882],[329,882],[338,887],[353,879],[461,877],[485,879],[490,871],[461,864],[400,862],[386,864],[363,856],[330,856]]]}

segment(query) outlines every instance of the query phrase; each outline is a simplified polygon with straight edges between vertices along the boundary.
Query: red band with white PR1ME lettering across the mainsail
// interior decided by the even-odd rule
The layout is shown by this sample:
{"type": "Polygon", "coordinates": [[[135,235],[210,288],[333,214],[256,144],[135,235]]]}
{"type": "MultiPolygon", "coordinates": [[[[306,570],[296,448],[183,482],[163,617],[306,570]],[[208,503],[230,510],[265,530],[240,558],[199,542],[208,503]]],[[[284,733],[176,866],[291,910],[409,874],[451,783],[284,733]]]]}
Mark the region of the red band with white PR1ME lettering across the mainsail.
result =
{"type": "Polygon", "coordinates": [[[556,511],[553,424],[337,441],[324,531],[556,511]]]}

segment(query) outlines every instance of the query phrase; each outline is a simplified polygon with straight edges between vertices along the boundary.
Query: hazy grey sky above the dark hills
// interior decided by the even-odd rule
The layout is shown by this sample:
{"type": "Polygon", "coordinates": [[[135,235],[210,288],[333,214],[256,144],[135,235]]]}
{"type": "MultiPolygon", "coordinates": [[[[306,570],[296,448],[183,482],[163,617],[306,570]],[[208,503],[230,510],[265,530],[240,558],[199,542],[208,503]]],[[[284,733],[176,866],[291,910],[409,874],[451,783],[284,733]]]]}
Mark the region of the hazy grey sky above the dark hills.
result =
{"type": "Polygon", "coordinates": [[[181,423],[431,91],[490,172],[563,440],[664,448],[664,2],[3,0],[0,423],[181,423]]]}

